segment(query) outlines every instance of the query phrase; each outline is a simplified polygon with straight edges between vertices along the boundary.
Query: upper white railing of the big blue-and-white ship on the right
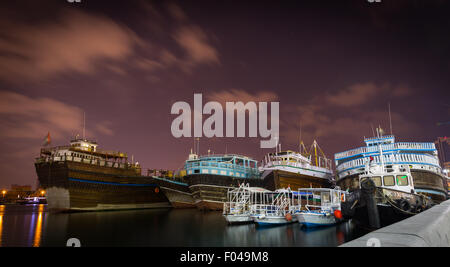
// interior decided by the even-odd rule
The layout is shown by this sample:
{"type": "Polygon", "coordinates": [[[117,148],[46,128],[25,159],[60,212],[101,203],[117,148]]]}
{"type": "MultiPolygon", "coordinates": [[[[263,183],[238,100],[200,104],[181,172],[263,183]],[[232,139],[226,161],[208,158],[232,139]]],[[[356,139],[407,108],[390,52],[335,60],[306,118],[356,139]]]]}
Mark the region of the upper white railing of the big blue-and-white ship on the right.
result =
{"type": "MultiPolygon", "coordinates": [[[[413,143],[413,142],[398,142],[393,144],[383,144],[381,145],[381,149],[383,151],[389,151],[389,150],[428,150],[428,151],[434,151],[436,150],[436,146],[434,143],[413,143]]],[[[371,146],[371,147],[359,147],[352,150],[336,153],[334,155],[334,158],[336,160],[348,158],[351,156],[359,155],[359,154],[365,154],[365,153],[372,153],[372,152],[378,152],[379,148],[378,146],[371,146]]]]}

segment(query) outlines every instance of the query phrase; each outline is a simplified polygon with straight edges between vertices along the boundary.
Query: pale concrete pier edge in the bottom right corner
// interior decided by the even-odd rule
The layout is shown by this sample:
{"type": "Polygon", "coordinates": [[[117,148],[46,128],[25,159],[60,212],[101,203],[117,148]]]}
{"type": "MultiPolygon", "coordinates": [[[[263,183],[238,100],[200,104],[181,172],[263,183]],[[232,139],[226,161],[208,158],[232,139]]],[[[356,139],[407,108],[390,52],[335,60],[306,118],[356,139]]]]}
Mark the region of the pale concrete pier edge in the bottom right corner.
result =
{"type": "Polygon", "coordinates": [[[450,247],[450,200],[341,247],[450,247]]]}

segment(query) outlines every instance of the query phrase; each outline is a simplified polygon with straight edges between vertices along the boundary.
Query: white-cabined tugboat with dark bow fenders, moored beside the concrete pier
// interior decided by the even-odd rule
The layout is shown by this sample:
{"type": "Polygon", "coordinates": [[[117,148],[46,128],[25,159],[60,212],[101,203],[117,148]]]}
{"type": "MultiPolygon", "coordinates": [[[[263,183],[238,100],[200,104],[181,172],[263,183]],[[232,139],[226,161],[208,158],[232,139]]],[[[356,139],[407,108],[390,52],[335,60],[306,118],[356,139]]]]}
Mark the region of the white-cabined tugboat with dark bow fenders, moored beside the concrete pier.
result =
{"type": "Polygon", "coordinates": [[[367,159],[364,172],[359,175],[359,188],[342,204],[345,217],[373,228],[403,220],[433,204],[430,197],[417,193],[411,167],[385,164],[381,143],[377,145],[380,164],[373,157],[367,159]]]}

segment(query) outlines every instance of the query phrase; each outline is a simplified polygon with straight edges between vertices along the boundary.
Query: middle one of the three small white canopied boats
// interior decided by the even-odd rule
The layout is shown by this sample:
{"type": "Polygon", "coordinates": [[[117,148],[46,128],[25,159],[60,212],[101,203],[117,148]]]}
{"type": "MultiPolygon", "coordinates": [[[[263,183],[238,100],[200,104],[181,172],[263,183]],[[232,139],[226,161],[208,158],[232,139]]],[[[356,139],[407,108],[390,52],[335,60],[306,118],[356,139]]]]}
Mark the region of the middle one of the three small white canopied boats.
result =
{"type": "Polygon", "coordinates": [[[296,222],[300,211],[297,193],[288,189],[263,192],[260,202],[250,207],[251,217],[258,225],[281,225],[296,222]]]}

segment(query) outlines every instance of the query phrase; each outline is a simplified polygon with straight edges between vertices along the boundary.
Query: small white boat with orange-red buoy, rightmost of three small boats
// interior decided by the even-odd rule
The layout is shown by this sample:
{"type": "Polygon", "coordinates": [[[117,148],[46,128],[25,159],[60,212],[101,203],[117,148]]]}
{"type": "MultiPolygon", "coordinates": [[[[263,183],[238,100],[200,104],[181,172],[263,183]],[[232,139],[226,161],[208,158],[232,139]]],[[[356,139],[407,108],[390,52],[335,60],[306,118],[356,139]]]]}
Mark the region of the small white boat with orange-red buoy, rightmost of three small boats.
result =
{"type": "Polygon", "coordinates": [[[329,188],[302,188],[299,198],[304,208],[296,213],[297,220],[306,227],[332,226],[342,220],[341,202],[346,192],[329,188]]]}

